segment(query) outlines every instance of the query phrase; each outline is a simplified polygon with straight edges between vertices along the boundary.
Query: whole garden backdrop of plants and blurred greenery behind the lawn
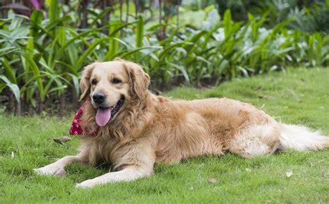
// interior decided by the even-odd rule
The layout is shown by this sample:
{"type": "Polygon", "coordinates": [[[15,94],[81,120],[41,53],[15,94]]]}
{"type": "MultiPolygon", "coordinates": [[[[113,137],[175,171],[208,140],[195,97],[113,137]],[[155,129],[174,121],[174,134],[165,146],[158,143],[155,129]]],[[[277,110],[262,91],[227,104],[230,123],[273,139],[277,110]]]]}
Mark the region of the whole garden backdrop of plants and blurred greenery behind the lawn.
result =
{"type": "Polygon", "coordinates": [[[155,91],[329,62],[328,0],[12,2],[0,5],[0,101],[16,114],[70,110],[95,60],[140,63],[155,91]]]}

